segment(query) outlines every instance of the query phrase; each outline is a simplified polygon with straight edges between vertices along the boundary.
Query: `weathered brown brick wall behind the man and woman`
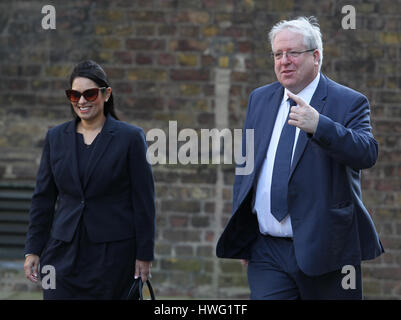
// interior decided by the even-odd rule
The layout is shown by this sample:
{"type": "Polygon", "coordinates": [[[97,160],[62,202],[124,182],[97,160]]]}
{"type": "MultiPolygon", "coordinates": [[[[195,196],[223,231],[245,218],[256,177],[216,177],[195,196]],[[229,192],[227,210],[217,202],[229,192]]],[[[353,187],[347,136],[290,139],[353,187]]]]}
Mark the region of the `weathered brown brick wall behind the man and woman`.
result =
{"type": "MultiPolygon", "coordinates": [[[[367,298],[401,298],[401,1],[0,2],[0,179],[33,180],[45,133],[71,118],[63,90],[74,64],[93,59],[109,75],[118,109],[145,132],[241,128],[250,91],[275,80],[267,32],[282,18],[315,15],[322,71],[368,96],[380,155],[363,172],[364,201],[387,253],[364,263],[367,298]],[[355,30],[341,8],[356,8],[355,30]]],[[[215,258],[231,214],[232,165],[155,165],[154,282],[162,294],[247,297],[238,261],[215,258]]]]}

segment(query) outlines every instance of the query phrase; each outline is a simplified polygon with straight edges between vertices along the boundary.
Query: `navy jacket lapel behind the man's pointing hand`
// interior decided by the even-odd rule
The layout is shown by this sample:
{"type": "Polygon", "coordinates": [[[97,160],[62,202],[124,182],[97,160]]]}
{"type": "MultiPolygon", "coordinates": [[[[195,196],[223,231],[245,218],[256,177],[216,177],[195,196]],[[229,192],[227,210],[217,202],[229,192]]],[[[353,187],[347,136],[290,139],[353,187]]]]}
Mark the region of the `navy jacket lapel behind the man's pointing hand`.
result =
{"type": "MultiPolygon", "coordinates": [[[[316,88],[315,93],[312,96],[312,99],[309,103],[313,108],[317,110],[317,112],[321,113],[323,107],[326,103],[325,99],[327,96],[327,80],[323,74],[320,74],[319,84],[316,88]]],[[[294,158],[292,159],[290,176],[288,177],[288,181],[291,179],[292,174],[294,173],[295,168],[298,165],[299,160],[301,159],[302,154],[305,151],[306,145],[309,142],[309,138],[305,131],[300,130],[297,145],[294,152],[294,158]]]]}

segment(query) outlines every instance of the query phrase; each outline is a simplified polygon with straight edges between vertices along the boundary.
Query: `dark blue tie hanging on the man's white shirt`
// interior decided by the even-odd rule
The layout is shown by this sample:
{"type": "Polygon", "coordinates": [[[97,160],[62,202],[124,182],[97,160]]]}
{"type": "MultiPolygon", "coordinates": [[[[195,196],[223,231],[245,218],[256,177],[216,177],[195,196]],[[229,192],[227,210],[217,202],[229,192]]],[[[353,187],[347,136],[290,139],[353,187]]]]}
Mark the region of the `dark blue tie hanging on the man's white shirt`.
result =
{"type": "MultiPolygon", "coordinates": [[[[297,105],[297,103],[290,98],[287,101],[290,103],[291,111],[291,107],[297,105]]],[[[283,220],[288,213],[288,177],[290,176],[295,129],[294,126],[288,124],[287,116],[276,150],[270,191],[271,213],[277,221],[283,220]]]]}

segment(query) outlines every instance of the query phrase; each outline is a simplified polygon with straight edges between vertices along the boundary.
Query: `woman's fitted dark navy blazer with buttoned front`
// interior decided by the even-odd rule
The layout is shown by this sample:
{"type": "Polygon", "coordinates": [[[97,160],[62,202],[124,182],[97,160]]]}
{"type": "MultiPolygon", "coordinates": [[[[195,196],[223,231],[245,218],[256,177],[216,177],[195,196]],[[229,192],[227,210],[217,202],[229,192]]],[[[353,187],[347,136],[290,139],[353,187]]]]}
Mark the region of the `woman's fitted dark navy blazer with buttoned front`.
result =
{"type": "Polygon", "coordinates": [[[108,115],[81,182],[75,126],[66,122],[46,135],[25,253],[40,256],[50,234],[70,242],[82,216],[91,241],[135,238],[136,258],[152,260],[154,182],[142,129],[108,115]]]}

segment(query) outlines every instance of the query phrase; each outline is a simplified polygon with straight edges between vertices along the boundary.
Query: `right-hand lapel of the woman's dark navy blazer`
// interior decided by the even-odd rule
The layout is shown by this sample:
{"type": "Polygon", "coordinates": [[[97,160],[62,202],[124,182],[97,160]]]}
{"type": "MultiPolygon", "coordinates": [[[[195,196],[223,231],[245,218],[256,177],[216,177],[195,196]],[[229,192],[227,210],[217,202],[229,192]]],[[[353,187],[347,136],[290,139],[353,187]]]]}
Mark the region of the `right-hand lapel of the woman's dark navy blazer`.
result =
{"type": "Polygon", "coordinates": [[[103,129],[99,133],[99,137],[97,137],[97,141],[96,141],[95,146],[92,150],[92,153],[89,157],[89,162],[88,162],[88,167],[87,167],[88,173],[85,175],[85,179],[84,179],[85,181],[83,183],[84,190],[85,190],[85,188],[88,184],[88,181],[93,173],[93,170],[95,169],[97,163],[99,162],[103,153],[106,151],[107,146],[109,145],[111,139],[113,138],[113,135],[114,135],[113,121],[114,121],[114,119],[110,115],[107,115],[106,121],[103,125],[103,129]]]}

